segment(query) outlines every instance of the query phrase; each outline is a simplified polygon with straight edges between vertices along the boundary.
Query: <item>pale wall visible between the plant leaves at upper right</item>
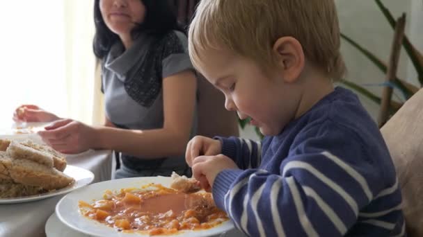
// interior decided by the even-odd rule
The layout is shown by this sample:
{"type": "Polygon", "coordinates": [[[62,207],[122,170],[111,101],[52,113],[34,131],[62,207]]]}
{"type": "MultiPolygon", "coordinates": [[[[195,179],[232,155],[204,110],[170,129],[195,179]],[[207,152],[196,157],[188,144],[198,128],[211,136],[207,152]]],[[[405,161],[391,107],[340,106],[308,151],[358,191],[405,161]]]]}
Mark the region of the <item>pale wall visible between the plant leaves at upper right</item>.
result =
{"type": "MultiPolygon", "coordinates": [[[[376,3],[373,0],[335,1],[342,33],[388,62],[394,30],[385,20],[376,3]]],[[[401,16],[402,12],[406,12],[408,20],[406,34],[410,36],[412,42],[418,43],[415,45],[420,51],[423,51],[422,0],[383,0],[383,3],[395,18],[401,16]]],[[[347,76],[349,80],[361,84],[382,83],[385,80],[385,75],[348,43],[342,42],[341,51],[349,69],[347,76]]],[[[404,50],[401,51],[398,75],[400,78],[408,78],[411,82],[417,81],[413,68],[409,67],[409,60],[404,50]]],[[[378,95],[382,91],[381,87],[367,87],[367,89],[378,95]]],[[[360,96],[360,99],[376,120],[378,105],[367,98],[360,96]]],[[[254,130],[250,128],[241,130],[241,137],[256,138],[254,130]]]]}

